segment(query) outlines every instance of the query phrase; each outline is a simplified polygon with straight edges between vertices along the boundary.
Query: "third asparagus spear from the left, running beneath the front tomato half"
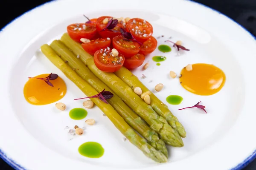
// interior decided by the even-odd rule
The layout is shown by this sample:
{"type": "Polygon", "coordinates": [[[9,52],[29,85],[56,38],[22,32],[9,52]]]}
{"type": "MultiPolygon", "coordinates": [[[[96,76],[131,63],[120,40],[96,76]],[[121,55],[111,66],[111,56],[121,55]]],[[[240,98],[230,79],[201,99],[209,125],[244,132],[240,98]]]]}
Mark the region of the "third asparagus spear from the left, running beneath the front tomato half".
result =
{"type": "Polygon", "coordinates": [[[174,147],[182,147],[184,145],[179,133],[168,124],[166,119],[158,116],[153,108],[135,94],[125,82],[116,77],[113,73],[106,73],[99,70],[94,64],[93,57],[84,51],[81,44],[73,41],[67,33],[63,34],[61,41],[76,55],[80,55],[80,59],[86,64],[90,71],[108,85],[108,87],[132,108],[135,113],[144,119],[145,122],[150,125],[151,129],[159,133],[161,139],[174,147]]]}

